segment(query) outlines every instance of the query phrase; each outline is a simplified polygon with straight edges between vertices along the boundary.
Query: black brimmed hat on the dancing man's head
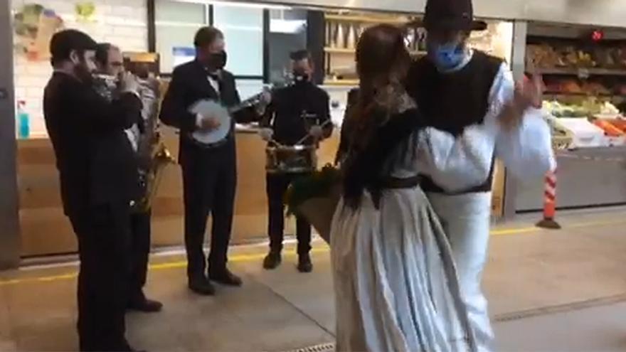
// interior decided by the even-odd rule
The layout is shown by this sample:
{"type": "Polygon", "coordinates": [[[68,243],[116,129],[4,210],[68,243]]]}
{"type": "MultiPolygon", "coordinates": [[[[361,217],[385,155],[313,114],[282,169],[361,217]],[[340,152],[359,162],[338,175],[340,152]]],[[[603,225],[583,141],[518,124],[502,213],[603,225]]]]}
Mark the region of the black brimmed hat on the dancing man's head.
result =
{"type": "Polygon", "coordinates": [[[408,26],[452,31],[484,31],[487,23],[474,20],[472,0],[427,0],[423,19],[408,26]]]}

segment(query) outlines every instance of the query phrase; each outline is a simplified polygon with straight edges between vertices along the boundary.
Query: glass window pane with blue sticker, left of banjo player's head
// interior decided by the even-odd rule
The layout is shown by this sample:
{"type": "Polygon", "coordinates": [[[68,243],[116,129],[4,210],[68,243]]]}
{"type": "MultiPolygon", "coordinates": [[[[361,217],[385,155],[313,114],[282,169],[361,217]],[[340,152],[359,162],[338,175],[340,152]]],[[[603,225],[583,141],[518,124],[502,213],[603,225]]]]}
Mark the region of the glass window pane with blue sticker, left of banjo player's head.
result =
{"type": "Polygon", "coordinates": [[[154,12],[161,73],[171,73],[177,65],[193,60],[193,36],[208,25],[208,5],[157,0],[154,12]]]}

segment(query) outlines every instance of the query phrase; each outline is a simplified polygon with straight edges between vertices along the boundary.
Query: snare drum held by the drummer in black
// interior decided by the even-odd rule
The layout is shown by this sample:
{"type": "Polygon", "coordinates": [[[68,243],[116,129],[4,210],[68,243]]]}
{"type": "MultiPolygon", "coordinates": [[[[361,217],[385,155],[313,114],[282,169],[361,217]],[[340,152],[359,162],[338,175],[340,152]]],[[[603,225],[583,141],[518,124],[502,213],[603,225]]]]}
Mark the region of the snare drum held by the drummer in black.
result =
{"type": "Polygon", "coordinates": [[[267,146],[268,174],[304,174],[317,169],[315,146],[267,146]]]}

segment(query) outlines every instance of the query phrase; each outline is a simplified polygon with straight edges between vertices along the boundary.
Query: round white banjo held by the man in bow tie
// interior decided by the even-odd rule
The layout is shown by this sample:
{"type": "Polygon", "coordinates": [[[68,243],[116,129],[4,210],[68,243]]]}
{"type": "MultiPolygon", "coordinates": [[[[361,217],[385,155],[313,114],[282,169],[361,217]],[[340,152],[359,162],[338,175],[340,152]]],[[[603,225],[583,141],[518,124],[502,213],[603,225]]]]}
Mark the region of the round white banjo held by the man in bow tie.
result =
{"type": "Polygon", "coordinates": [[[225,107],[216,100],[202,99],[198,100],[195,104],[189,107],[189,112],[194,115],[212,116],[215,117],[219,126],[209,131],[195,131],[189,134],[189,139],[196,145],[206,149],[215,148],[221,146],[228,141],[228,137],[233,129],[233,117],[231,116],[235,112],[239,112],[248,107],[263,107],[267,105],[267,102],[263,101],[263,95],[270,92],[267,88],[263,92],[253,95],[238,105],[232,107],[225,107]]]}

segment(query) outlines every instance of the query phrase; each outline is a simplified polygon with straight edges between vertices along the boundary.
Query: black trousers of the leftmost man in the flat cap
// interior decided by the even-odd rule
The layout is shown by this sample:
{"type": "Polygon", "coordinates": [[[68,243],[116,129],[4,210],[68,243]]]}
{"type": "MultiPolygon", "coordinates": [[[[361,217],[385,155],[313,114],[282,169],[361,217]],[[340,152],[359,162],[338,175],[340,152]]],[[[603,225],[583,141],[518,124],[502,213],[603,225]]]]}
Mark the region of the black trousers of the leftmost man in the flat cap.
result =
{"type": "Polygon", "coordinates": [[[129,351],[124,314],[129,281],[128,205],[86,207],[70,215],[78,238],[80,351],[129,351]]]}

